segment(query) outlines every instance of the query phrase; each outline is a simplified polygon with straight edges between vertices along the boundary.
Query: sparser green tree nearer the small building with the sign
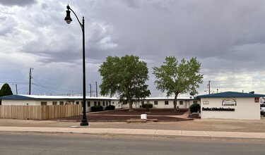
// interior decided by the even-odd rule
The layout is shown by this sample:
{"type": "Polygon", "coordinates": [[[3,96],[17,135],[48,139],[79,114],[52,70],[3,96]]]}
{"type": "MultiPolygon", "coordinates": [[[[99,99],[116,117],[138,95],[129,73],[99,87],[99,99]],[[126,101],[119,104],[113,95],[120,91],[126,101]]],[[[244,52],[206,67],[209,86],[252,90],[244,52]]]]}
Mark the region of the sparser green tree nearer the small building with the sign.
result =
{"type": "Polygon", "coordinates": [[[201,63],[196,58],[177,61],[175,56],[165,58],[163,65],[153,67],[156,88],[167,92],[167,97],[175,94],[174,111],[177,111],[177,96],[188,92],[197,93],[196,88],[202,83],[204,75],[199,74],[201,63]]]}

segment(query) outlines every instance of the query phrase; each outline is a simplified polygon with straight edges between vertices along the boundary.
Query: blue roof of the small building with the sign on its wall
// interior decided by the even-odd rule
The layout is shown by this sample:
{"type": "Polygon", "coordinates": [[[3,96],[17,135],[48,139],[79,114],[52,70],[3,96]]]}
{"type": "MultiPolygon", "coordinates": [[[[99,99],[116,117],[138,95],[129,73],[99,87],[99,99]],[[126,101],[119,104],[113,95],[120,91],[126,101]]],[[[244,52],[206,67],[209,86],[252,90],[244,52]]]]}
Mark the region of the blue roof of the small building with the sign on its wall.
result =
{"type": "Polygon", "coordinates": [[[265,97],[265,94],[249,94],[243,92],[220,92],[216,94],[204,94],[197,96],[197,98],[220,98],[220,97],[238,97],[238,98],[265,97]]]}

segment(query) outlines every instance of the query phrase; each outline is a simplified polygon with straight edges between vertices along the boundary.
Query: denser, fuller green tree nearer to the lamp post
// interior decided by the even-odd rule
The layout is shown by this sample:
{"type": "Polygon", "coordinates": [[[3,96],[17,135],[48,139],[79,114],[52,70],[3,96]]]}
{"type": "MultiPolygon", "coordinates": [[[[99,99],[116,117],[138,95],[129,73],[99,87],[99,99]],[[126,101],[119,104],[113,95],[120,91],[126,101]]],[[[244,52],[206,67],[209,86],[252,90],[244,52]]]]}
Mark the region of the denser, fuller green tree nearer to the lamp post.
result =
{"type": "Polygon", "coordinates": [[[139,61],[138,56],[108,56],[98,70],[102,76],[100,94],[119,95],[121,101],[129,102],[132,111],[133,101],[149,97],[150,90],[146,85],[148,68],[144,61],[139,61]]]}

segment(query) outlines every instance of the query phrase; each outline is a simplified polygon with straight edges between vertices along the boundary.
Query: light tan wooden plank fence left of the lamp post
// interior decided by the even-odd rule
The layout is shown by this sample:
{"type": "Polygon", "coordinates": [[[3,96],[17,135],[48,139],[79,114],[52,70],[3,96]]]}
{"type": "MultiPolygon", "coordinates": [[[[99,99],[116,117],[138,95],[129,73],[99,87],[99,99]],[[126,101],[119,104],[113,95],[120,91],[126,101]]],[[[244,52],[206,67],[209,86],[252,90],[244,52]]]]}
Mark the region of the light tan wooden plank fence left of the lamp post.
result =
{"type": "Polygon", "coordinates": [[[46,120],[79,116],[81,114],[81,104],[58,106],[0,106],[0,118],[7,119],[46,120]]]}

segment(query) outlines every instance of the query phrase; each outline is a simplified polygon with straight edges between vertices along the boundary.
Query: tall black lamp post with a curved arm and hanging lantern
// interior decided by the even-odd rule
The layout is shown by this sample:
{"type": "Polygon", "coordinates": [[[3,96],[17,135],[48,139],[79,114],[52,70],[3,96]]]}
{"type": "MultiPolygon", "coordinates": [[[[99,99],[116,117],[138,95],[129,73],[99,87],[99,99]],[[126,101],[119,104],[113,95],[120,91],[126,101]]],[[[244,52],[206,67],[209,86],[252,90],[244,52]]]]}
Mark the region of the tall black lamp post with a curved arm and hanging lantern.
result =
{"type": "MultiPolygon", "coordinates": [[[[73,14],[75,16],[76,16],[76,13],[70,8],[69,5],[67,5],[66,8],[67,8],[67,11],[66,11],[66,17],[64,18],[64,20],[66,21],[66,23],[70,24],[71,21],[72,21],[71,16],[70,16],[71,11],[73,12],[73,14]]],[[[78,20],[78,23],[80,24],[82,32],[83,32],[83,117],[82,117],[80,125],[81,126],[87,126],[88,125],[88,120],[86,119],[85,20],[84,20],[84,17],[83,17],[83,20],[82,20],[82,23],[81,23],[77,16],[76,16],[76,19],[78,20]]]]}

